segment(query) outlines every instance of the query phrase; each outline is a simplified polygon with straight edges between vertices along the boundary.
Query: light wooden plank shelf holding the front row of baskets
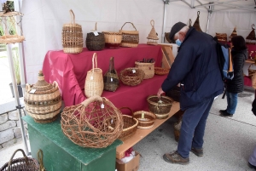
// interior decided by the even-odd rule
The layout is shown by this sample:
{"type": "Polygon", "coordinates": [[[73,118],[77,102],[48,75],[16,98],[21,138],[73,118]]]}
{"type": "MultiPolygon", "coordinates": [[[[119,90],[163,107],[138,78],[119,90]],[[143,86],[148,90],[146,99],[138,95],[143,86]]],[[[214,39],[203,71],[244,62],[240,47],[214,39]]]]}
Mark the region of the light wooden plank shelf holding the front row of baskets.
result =
{"type": "Polygon", "coordinates": [[[165,123],[170,117],[172,117],[177,111],[180,110],[179,102],[174,101],[172,108],[169,114],[169,117],[166,119],[156,119],[154,126],[148,129],[137,128],[137,131],[129,139],[124,140],[122,145],[117,146],[116,148],[116,158],[121,159],[125,157],[125,151],[127,151],[131,146],[136,145],[137,142],[143,140],[148,134],[154,131],[155,128],[158,128],[162,123],[165,123]]]}

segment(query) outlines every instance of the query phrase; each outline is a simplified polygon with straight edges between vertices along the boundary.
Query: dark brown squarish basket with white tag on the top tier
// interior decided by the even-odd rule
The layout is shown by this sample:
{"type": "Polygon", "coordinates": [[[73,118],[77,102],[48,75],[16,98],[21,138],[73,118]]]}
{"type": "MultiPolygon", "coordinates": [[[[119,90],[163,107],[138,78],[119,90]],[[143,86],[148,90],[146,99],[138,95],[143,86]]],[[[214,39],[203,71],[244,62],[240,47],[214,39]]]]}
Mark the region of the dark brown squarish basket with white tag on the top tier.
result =
{"type": "Polygon", "coordinates": [[[97,23],[95,25],[95,31],[87,33],[86,48],[88,48],[88,50],[102,50],[105,47],[104,34],[96,30],[97,23]]]}

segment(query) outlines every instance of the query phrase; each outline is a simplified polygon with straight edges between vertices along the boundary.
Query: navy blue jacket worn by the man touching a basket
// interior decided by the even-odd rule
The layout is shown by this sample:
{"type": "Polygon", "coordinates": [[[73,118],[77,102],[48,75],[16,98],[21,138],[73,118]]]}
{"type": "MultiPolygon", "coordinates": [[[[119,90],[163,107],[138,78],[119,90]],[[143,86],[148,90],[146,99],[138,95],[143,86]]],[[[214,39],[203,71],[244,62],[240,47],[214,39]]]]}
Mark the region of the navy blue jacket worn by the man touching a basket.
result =
{"type": "Polygon", "coordinates": [[[218,68],[217,44],[213,37],[189,28],[162,89],[181,83],[180,106],[187,109],[224,92],[218,68]]]}

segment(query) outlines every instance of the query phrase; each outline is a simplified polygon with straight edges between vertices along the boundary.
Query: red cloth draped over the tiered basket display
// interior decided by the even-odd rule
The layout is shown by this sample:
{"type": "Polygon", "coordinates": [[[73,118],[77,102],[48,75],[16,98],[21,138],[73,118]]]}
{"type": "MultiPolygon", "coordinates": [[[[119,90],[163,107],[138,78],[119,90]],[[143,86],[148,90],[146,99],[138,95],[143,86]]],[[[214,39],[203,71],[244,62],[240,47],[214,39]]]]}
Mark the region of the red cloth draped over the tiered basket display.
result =
{"type": "MultiPolygon", "coordinates": [[[[155,65],[160,66],[162,52],[160,46],[139,44],[137,48],[104,48],[102,51],[83,49],[80,54],[65,54],[63,51],[49,51],[44,58],[43,73],[45,81],[56,81],[61,90],[62,100],[66,106],[77,105],[84,101],[84,82],[87,71],[92,69],[92,55],[97,54],[97,65],[103,74],[108,71],[110,57],[114,57],[114,67],[119,72],[127,67],[134,67],[136,60],[154,58],[155,65]]],[[[117,107],[129,106],[133,110],[147,108],[146,97],[156,94],[166,76],[154,76],[143,80],[136,87],[120,87],[115,92],[103,91],[106,97],[117,107]]]]}

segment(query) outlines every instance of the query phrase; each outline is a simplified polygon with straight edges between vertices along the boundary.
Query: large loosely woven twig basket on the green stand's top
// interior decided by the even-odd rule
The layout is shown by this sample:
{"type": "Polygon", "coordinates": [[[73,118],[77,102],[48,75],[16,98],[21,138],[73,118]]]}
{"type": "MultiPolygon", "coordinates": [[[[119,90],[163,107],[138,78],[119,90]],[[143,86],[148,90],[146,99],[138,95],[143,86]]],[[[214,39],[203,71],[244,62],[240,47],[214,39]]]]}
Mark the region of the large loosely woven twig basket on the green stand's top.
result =
{"type": "Polygon", "coordinates": [[[123,130],[122,114],[108,99],[98,95],[79,105],[65,107],[61,129],[73,143],[92,148],[111,145],[123,130]]]}

